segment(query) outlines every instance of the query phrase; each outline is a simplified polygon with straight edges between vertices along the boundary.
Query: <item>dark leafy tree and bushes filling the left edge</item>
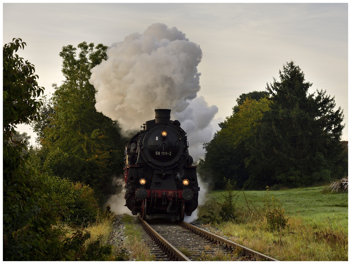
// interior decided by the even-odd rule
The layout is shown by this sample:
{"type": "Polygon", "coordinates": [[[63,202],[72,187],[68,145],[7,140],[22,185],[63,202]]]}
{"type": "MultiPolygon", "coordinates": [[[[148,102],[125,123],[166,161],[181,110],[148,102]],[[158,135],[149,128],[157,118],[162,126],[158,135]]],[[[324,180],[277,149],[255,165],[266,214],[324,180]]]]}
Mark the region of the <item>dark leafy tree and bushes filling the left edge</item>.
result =
{"type": "Polygon", "coordinates": [[[43,166],[23,137],[14,134],[16,124],[39,120],[43,88],[33,75],[34,66],[13,54],[25,43],[14,39],[3,47],[3,259],[4,260],[105,260],[111,246],[99,241],[85,248],[90,234],[76,229],[67,236],[61,223],[70,216],[80,224],[97,213],[92,189],[52,175],[52,167],[65,153],[57,150],[43,166]],[[13,136],[15,135],[15,136],[13,136]]]}

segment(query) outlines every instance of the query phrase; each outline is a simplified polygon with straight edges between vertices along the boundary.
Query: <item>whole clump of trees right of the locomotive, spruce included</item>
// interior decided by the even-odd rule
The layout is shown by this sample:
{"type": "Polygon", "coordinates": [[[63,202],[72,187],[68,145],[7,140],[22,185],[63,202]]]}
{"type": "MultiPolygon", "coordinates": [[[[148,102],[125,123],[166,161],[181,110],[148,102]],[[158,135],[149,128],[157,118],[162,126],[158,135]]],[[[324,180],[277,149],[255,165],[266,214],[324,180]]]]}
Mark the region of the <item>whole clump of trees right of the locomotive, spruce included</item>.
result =
{"type": "Polygon", "coordinates": [[[200,172],[214,188],[223,177],[239,187],[308,186],[347,173],[347,152],[340,144],[343,111],[326,91],[308,93],[312,83],[289,62],[267,92],[241,95],[233,114],[204,144],[200,172]]]}

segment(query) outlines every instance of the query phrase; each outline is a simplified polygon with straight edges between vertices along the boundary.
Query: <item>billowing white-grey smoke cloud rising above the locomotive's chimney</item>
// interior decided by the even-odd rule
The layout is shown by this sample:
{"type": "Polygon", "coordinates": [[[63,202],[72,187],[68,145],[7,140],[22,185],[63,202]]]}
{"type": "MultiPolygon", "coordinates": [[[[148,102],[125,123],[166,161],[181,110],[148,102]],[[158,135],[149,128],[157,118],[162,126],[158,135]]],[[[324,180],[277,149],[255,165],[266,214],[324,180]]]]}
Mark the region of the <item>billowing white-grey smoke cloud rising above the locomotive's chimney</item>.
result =
{"type": "Polygon", "coordinates": [[[127,133],[153,119],[154,109],[171,109],[171,119],[178,119],[187,132],[196,161],[201,145],[213,136],[210,122],[218,111],[197,97],[200,46],[176,27],[155,23],[143,35],[133,33],[113,43],[106,54],[89,80],[97,91],[97,111],[117,120],[127,133]]]}

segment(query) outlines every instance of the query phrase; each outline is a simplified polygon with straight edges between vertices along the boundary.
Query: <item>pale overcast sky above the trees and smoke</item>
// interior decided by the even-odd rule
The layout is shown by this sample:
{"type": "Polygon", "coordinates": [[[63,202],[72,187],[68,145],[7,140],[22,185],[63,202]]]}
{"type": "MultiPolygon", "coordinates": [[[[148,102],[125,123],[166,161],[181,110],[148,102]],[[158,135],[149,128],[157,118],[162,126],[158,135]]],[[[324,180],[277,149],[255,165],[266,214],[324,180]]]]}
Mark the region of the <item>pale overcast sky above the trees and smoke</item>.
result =
{"type": "MultiPolygon", "coordinates": [[[[200,45],[201,90],[217,105],[216,125],[241,93],[265,90],[293,60],[312,82],[348,112],[347,4],[3,4],[3,44],[20,37],[19,55],[35,65],[39,85],[61,84],[62,46],[86,41],[110,46],[152,23],[177,27],[200,45]]],[[[218,126],[216,126],[218,128],[218,126]]],[[[20,132],[35,135],[26,126],[20,132]]]]}

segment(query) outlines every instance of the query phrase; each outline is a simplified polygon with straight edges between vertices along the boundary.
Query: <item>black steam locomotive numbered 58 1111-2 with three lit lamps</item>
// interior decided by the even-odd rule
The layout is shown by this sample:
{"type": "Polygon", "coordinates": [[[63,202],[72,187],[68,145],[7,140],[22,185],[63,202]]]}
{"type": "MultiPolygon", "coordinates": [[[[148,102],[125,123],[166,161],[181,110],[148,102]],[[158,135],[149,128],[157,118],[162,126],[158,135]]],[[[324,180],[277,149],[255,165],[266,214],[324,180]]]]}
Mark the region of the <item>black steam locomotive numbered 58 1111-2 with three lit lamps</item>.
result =
{"type": "Polygon", "coordinates": [[[174,215],[184,220],[198,206],[200,187],[185,131],[170,109],[155,109],[125,149],[125,206],[133,215],[174,215]]]}

